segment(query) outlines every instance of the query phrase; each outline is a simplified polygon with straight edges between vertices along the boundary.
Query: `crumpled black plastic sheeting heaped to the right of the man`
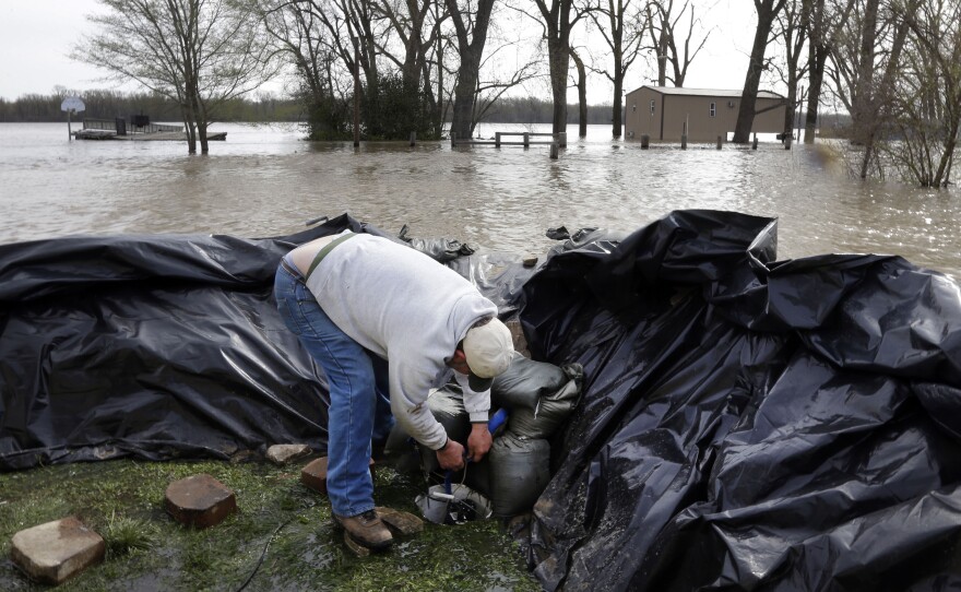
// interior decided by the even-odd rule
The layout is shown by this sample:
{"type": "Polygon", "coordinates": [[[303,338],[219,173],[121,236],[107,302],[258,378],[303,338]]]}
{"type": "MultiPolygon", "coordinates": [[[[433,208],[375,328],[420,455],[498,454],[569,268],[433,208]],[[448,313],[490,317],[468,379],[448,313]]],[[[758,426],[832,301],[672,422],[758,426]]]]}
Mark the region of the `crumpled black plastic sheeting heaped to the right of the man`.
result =
{"type": "Polygon", "coordinates": [[[775,228],[676,212],[526,283],[534,357],[585,375],[535,506],[546,589],[961,589],[958,286],[778,263],[775,228]]]}

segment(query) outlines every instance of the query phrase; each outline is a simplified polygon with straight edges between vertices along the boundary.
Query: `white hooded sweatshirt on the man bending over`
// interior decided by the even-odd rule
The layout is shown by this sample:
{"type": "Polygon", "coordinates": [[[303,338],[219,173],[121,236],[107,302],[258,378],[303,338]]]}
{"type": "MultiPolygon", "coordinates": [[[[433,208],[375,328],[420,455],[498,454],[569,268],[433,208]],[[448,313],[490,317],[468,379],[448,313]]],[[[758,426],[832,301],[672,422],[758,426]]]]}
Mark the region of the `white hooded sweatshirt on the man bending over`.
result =
{"type": "Polygon", "coordinates": [[[307,287],[344,333],[388,360],[391,411],[418,442],[437,450],[447,440],[425,401],[451,374],[471,421],[487,421],[490,391],[472,391],[444,364],[475,322],[497,315],[471,282],[410,247],[357,234],[320,261],[307,287]]]}

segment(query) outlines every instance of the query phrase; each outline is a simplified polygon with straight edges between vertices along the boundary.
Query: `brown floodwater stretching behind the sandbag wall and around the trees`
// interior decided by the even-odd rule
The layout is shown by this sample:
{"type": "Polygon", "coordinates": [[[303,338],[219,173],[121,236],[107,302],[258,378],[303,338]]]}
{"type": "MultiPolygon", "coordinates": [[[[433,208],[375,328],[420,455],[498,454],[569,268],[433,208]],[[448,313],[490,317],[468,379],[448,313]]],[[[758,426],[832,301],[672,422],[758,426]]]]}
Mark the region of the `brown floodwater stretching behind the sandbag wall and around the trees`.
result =
{"type": "MultiPolygon", "coordinates": [[[[74,129],[78,125],[74,123],[74,129]]],[[[486,125],[479,134],[549,131],[486,125]]],[[[309,143],[293,126],[215,126],[225,142],[190,156],[181,142],[68,141],[64,123],[0,123],[0,242],[71,234],[304,229],[349,212],[410,236],[541,254],[549,227],[630,230],[680,209],[779,218],[779,257],[901,254],[961,277],[961,196],[864,183],[829,151],[762,142],[757,151],[681,151],[586,139],[547,146],[451,149],[448,142],[309,143]]]]}

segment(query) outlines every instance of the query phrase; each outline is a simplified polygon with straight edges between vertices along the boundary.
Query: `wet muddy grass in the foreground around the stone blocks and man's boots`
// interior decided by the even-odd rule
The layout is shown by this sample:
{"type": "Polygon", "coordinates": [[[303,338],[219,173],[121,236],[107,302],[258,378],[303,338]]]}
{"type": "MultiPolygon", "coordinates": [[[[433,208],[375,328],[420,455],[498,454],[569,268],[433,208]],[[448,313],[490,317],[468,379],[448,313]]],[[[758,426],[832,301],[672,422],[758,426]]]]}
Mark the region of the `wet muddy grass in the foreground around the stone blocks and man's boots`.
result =
{"type": "MultiPolygon", "coordinates": [[[[300,467],[245,462],[108,461],[0,474],[0,590],[44,590],[9,559],[14,533],[76,516],[107,543],[106,560],[57,590],[537,591],[519,546],[497,520],[425,523],[367,558],[331,525],[330,504],[300,483],[300,467]],[[207,473],[234,489],[239,511],[191,530],[164,511],[164,490],[207,473]]],[[[417,475],[381,466],[376,501],[419,516],[417,475]]]]}

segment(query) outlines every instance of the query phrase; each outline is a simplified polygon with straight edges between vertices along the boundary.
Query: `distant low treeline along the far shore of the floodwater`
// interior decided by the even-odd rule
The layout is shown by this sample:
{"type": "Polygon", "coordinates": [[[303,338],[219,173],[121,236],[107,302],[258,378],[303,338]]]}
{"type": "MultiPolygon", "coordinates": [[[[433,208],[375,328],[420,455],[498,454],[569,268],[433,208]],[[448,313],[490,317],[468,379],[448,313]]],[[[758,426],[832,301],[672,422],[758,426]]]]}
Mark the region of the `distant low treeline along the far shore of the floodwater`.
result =
{"type": "MultiPolygon", "coordinates": [[[[68,94],[23,95],[15,100],[0,98],[0,121],[2,122],[44,122],[64,121],[67,114],[60,104],[68,94]]],[[[169,98],[154,93],[119,93],[116,91],[84,91],[70,93],[80,96],[86,110],[73,117],[129,119],[133,115],[145,115],[151,121],[179,121],[180,109],[169,98]]],[[[217,121],[301,121],[304,105],[296,98],[274,98],[261,95],[258,98],[238,98],[221,108],[217,121]]],[[[578,107],[568,107],[569,122],[578,122],[578,107]]],[[[551,104],[539,98],[502,98],[491,107],[484,118],[499,123],[550,123],[551,104]]],[[[588,123],[609,123],[609,105],[588,107],[588,123]]]]}

